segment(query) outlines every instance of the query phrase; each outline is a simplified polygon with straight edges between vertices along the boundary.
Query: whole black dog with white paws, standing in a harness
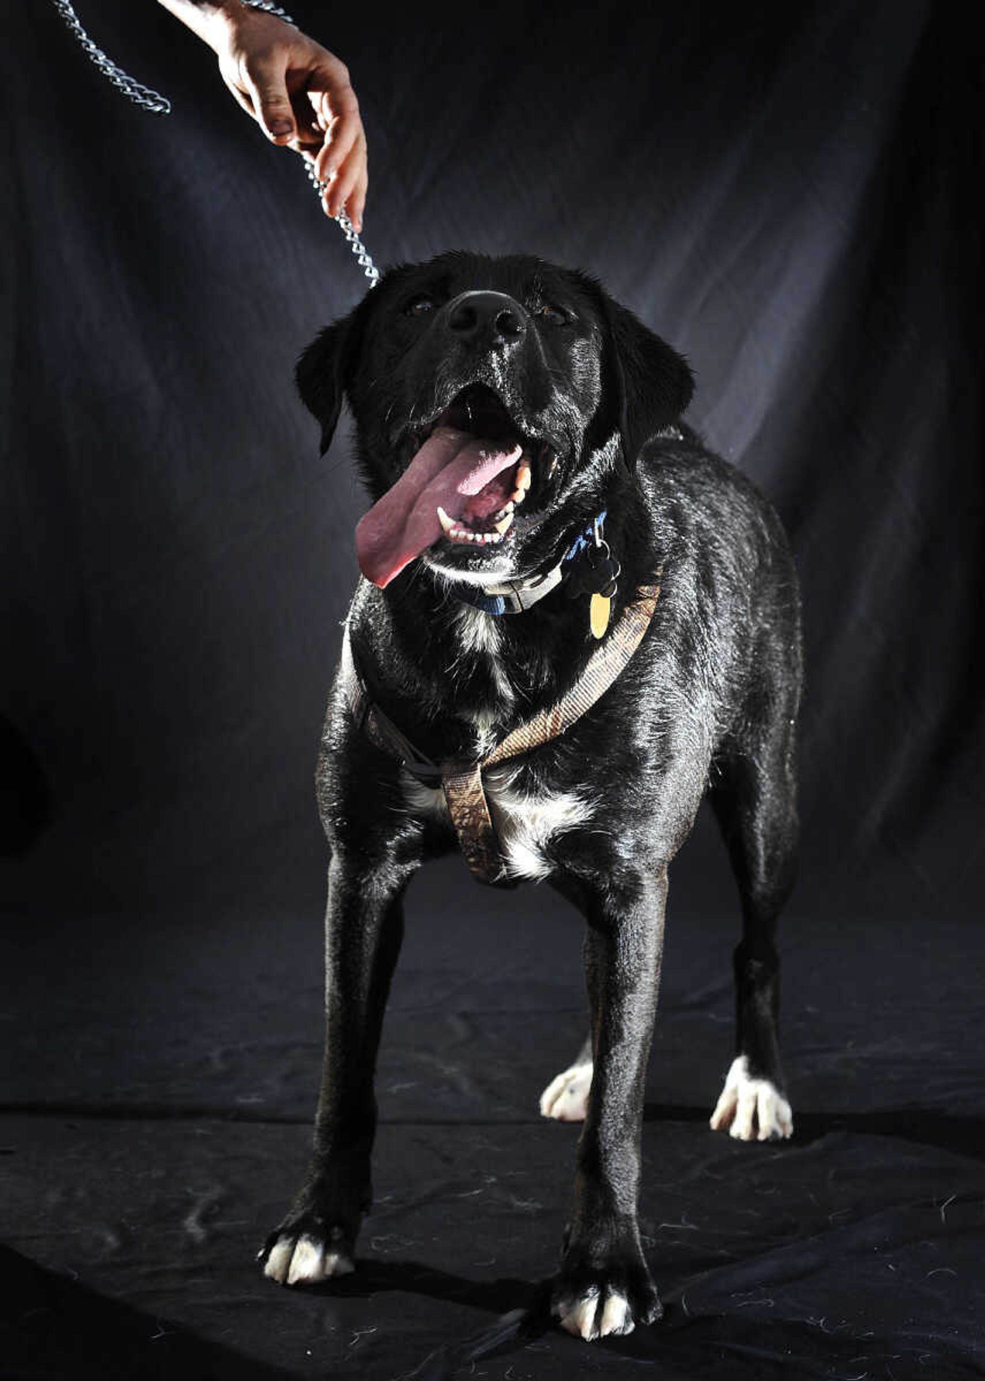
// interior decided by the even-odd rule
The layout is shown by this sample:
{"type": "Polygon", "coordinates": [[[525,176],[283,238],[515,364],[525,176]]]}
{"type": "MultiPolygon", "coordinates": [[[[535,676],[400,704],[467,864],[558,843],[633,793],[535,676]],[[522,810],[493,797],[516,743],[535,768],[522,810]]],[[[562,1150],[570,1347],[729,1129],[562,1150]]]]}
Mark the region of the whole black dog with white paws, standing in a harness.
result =
{"type": "Polygon", "coordinates": [[[547,878],[587,921],[591,1034],[542,1099],[584,1117],[553,1308],[584,1338],[629,1333],[660,1313],[637,1228],[644,1073],[667,866],[706,789],[743,917],[738,1055],[711,1126],[792,1131],[775,932],[796,870],[801,645],[779,519],[678,423],[684,360],[597,282],[535,258],[392,269],[297,380],[325,446],[348,398],[376,503],[318,775],[315,1149],[265,1273],[352,1269],[402,895],[461,842],[479,878],[547,878]]]}

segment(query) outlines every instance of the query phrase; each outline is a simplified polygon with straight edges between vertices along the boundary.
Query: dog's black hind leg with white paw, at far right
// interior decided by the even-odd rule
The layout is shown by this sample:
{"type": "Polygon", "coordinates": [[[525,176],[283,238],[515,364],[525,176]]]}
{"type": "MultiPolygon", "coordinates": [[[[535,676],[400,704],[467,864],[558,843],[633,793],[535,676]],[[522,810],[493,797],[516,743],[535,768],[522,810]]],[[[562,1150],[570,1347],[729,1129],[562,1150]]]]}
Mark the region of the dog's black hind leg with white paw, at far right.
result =
{"type": "Polygon", "coordinates": [[[794,729],[792,713],[774,715],[752,749],[717,761],[711,791],[742,899],[734,956],[736,1055],[711,1127],[739,1141],[774,1141],[793,1131],[779,1056],[776,925],[797,873],[794,729]]]}

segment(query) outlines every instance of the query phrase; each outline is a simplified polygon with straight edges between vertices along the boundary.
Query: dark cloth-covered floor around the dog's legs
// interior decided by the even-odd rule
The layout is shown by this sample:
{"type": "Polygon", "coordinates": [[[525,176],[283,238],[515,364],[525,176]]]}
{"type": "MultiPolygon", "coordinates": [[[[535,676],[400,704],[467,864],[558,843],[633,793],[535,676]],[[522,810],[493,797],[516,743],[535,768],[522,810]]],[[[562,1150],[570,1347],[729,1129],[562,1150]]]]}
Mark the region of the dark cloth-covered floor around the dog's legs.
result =
{"type": "Polygon", "coordinates": [[[253,1255],[307,1156],[319,917],[251,896],[11,917],[0,1375],[985,1374],[981,929],[793,906],[796,1135],[739,1145],[707,1128],[732,1054],[723,878],[674,887],[649,1068],[666,1316],[593,1345],[542,1317],[577,1128],[537,1095],[584,1023],[580,923],[553,892],[504,899],[457,859],[414,884],[359,1271],[303,1293],[253,1255]]]}

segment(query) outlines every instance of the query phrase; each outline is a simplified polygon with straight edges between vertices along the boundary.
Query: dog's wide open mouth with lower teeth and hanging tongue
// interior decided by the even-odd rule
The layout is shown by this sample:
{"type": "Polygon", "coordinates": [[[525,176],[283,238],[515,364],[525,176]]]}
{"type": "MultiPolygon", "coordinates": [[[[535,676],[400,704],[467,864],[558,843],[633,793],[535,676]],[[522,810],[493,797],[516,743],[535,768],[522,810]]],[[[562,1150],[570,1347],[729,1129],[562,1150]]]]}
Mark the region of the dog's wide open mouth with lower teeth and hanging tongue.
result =
{"type": "Polygon", "coordinates": [[[416,442],[401,478],[356,528],[362,573],[381,588],[442,537],[471,551],[499,547],[546,453],[484,387],[463,389],[416,442]]]}

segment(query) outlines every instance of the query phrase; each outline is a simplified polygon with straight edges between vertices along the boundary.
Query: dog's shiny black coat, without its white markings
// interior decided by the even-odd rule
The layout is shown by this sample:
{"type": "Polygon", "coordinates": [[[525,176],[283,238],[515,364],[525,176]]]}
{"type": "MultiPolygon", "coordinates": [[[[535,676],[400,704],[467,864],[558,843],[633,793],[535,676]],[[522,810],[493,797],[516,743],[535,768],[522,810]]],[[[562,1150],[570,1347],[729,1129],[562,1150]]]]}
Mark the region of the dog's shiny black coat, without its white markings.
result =
{"type": "MultiPolygon", "coordinates": [[[[518,762],[518,790],[577,791],[586,826],[547,845],[551,882],[587,921],[584,958],[595,1073],[555,1301],[613,1284],[638,1322],[659,1315],[635,1221],[642,1087],[660,968],[667,866],[710,789],[739,885],[738,1051],[779,1088],[775,929],[796,870],[797,581],[774,510],[678,418],[684,360],[593,279],[526,257],[448,254],[387,273],[304,354],[298,387],[330,441],[348,396],[373,499],[416,449],[414,431],[470,383],[495,387],[560,461],[535,474],[513,562],[558,559],[601,508],[623,566],[613,620],[663,568],[648,635],[622,678],[565,736],[518,762]],[[459,294],[518,304],[521,334],[464,340],[459,294]],[[430,304],[423,304],[427,294],[430,304]],[[452,305],[449,305],[452,304],[452,305]],[[544,311],[544,308],[548,308],[544,311]],[[564,309],[564,319],[554,309],[564,309]],[[678,423],[673,439],[648,439],[678,423]],[[530,516],[532,515],[532,516],[530,516]]],[[[437,761],[477,755],[471,714],[496,737],[558,700],[593,649],[587,599],[562,590],[496,620],[500,674],[461,642],[460,609],[431,565],[438,543],[385,591],[361,583],[350,634],[374,700],[437,761]]],[[[455,548],[449,569],[489,558],[455,548]]],[[[489,616],[482,616],[489,617],[489,616]]],[[[271,1235],[309,1233],[351,1251],[370,1200],[373,1065],[401,943],[402,894],[417,866],[456,847],[450,827],[409,809],[398,764],[333,695],[318,773],[332,845],[327,1055],[311,1170],[271,1235]]],[[[544,1070],[544,1076],[553,1070],[544,1070]]]]}

